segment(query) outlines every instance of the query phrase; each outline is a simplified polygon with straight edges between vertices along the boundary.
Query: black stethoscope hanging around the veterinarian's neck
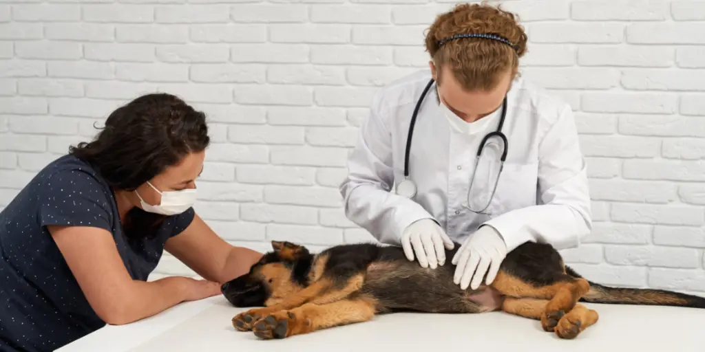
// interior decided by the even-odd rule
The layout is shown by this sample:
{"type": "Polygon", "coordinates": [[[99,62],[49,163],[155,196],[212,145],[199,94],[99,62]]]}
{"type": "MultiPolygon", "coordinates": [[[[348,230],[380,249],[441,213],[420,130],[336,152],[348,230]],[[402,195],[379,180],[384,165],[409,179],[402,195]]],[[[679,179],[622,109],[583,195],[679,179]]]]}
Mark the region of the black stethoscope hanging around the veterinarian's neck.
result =
{"type": "MultiPolygon", "coordinates": [[[[424,88],[424,92],[422,92],[421,96],[419,97],[419,101],[417,101],[416,106],[414,108],[414,113],[411,115],[411,122],[409,125],[409,132],[406,140],[406,152],[404,155],[404,180],[400,182],[397,187],[396,187],[396,193],[400,196],[404,196],[406,198],[412,198],[413,196],[416,195],[417,187],[416,184],[413,180],[410,179],[409,177],[409,156],[410,156],[410,151],[411,151],[411,140],[412,136],[414,134],[414,126],[416,124],[416,117],[419,113],[419,109],[421,108],[421,105],[424,101],[424,98],[426,97],[427,93],[429,92],[429,89],[431,86],[434,84],[435,80],[431,79],[429,80],[429,83],[426,84],[426,87],[424,88]]],[[[470,179],[470,186],[468,187],[467,190],[467,206],[465,208],[470,209],[474,213],[482,213],[488,206],[489,203],[491,202],[492,198],[494,197],[494,193],[497,189],[497,184],[498,182],[494,183],[494,189],[492,189],[492,195],[489,198],[489,201],[487,205],[482,208],[481,210],[474,210],[470,208],[470,190],[472,189],[472,184],[474,182],[475,174],[477,173],[477,165],[479,164],[479,159],[480,156],[482,155],[482,150],[484,149],[484,146],[487,142],[488,139],[491,137],[499,137],[502,139],[503,144],[503,151],[502,151],[502,156],[500,158],[500,169],[499,172],[497,173],[497,180],[499,180],[499,175],[502,173],[502,169],[504,168],[504,161],[507,158],[507,149],[508,149],[508,144],[507,144],[507,137],[502,133],[502,127],[504,125],[504,119],[507,114],[507,97],[504,97],[504,101],[502,102],[502,114],[499,119],[499,125],[497,126],[497,129],[494,132],[489,132],[484,136],[482,139],[482,142],[480,142],[480,146],[477,149],[477,155],[475,156],[475,167],[472,172],[472,178],[470,179]]]]}

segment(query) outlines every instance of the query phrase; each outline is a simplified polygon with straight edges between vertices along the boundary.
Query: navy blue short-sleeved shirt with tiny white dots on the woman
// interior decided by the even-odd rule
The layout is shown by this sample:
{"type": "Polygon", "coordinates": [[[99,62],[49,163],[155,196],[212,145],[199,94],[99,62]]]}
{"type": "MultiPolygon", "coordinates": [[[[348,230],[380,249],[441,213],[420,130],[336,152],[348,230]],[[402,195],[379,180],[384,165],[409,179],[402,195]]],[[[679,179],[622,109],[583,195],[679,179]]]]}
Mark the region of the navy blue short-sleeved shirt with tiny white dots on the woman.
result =
{"type": "Polygon", "coordinates": [[[47,165],[0,213],[0,351],[54,351],[105,325],[47,225],[108,230],[130,276],[145,281],[166,240],[193,217],[190,208],[168,217],[156,236],[128,240],[113,192],[90,165],[73,156],[47,165]]]}

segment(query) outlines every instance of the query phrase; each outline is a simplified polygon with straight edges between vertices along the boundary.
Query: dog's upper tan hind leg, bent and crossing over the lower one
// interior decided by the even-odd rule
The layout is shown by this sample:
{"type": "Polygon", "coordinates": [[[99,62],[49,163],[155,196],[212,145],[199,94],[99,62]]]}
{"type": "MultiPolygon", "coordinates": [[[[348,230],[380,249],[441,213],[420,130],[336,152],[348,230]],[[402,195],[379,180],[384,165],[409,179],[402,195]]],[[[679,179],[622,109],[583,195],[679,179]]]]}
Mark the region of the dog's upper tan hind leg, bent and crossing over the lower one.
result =
{"type": "Polygon", "coordinates": [[[580,297],[590,289],[586,279],[571,277],[565,273],[556,275],[551,284],[539,285],[527,281],[500,271],[491,286],[509,297],[547,299],[548,303],[541,317],[541,326],[547,332],[553,332],[560,318],[570,312],[580,297]]]}

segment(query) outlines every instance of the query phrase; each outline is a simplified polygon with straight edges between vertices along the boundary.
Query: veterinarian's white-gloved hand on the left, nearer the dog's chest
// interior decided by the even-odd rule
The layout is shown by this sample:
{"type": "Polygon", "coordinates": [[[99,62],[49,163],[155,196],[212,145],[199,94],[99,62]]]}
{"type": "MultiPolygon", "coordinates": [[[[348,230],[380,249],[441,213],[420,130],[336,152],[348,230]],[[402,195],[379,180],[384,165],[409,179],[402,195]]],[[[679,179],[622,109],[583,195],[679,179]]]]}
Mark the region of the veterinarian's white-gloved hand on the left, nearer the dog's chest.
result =
{"type": "Polygon", "coordinates": [[[414,253],[422,268],[437,268],[446,263],[445,249],[453,249],[455,244],[437,222],[422,219],[412,222],[401,235],[401,245],[406,258],[414,260],[414,253]]]}

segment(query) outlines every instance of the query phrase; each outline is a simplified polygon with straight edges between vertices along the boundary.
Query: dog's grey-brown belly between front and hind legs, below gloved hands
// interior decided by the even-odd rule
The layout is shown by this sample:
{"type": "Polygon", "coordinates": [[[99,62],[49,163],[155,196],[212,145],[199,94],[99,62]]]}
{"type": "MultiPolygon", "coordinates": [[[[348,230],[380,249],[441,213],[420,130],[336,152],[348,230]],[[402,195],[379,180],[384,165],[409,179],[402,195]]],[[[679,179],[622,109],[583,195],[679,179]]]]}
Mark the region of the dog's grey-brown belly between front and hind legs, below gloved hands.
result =
{"type": "Polygon", "coordinates": [[[376,298],[380,311],[483,313],[501,307],[502,296],[494,289],[460,289],[453,283],[453,269],[452,265],[424,269],[407,261],[372,263],[362,292],[376,298]]]}

